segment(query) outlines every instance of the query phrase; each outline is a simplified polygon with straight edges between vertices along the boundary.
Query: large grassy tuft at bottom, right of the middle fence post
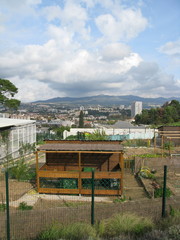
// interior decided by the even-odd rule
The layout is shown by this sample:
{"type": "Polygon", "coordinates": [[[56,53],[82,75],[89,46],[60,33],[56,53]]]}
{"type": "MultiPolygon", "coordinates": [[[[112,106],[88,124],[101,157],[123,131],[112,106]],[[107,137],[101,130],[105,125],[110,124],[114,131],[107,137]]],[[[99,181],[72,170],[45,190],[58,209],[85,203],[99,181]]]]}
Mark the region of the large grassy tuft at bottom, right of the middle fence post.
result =
{"type": "Polygon", "coordinates": [[[153,228],[150,219],[134,214],[115,215],[105,222],[104,237],[117,237],[121,234],[139,235],[153,228]]]}

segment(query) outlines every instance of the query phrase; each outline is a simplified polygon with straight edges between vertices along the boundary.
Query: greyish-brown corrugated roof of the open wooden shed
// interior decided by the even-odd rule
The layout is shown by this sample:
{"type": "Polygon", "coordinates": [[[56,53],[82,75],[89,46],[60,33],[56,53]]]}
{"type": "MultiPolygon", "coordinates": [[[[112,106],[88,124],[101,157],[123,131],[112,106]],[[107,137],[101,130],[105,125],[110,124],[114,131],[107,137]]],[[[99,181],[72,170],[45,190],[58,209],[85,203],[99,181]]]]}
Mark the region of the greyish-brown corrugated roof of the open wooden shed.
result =
{"type": "Polygon", "coordinates": [[[38,148],[39,151],[102,151],[102,152],[120,152],[123,146],[119,144],[73,144],[73,143],[55,143],[44,144],[38,148]]]}

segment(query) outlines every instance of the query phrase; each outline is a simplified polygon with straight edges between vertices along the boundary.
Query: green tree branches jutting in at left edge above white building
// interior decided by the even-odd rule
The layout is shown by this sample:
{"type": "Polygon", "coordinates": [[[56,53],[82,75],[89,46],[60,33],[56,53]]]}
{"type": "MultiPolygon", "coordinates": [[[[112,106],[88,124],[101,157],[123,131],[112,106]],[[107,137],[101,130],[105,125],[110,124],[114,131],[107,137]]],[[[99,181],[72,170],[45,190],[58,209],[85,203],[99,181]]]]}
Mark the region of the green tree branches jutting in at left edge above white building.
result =
{"type": "Polygon", "coordinates": [[[9,109],[17,109],[20,101],[14,99],[18,88],[9,80],[0,78],[0,104],[9,109]]]}

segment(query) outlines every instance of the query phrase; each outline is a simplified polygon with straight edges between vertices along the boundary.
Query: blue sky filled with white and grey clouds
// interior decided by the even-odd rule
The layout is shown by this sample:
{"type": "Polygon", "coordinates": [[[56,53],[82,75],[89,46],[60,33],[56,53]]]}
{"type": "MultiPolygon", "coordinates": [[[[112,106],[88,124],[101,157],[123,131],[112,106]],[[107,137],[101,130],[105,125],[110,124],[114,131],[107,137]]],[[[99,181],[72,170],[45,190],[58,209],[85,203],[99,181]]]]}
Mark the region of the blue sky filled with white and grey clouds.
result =
{"type": "Polygon", "coordinates": [[[22,102],[180,97],[180,0],[0,0],[0,78],[22,102]]]}

